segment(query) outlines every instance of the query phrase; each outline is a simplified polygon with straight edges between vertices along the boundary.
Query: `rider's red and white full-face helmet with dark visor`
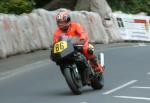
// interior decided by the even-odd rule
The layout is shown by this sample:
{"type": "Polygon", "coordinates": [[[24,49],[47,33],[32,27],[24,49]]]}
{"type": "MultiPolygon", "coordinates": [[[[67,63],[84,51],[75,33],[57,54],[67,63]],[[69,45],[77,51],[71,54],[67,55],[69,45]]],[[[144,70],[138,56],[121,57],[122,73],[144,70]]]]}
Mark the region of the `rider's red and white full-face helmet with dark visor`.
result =
{"type": "Polygon", "coordinates": [[[69,13],[66,10],[60,11],[56,16],[56,22],[62,31],[67,31],[71,23],[69,13]]]}

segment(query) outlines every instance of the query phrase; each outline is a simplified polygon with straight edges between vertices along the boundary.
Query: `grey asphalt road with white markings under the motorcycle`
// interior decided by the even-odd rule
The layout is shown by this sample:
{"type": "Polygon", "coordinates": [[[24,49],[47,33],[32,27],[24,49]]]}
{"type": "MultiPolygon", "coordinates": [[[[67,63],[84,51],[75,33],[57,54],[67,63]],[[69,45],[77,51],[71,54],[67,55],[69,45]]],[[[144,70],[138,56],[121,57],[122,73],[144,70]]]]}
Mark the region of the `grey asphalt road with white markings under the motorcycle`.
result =
{"type": "Polygon", "coordinates": [[[73,95],[48,52],[40,51],[0,60],[0,103],[150,103],[150,46],[96,48],[105,54],[102,90],[87,86],[73,95]]]}

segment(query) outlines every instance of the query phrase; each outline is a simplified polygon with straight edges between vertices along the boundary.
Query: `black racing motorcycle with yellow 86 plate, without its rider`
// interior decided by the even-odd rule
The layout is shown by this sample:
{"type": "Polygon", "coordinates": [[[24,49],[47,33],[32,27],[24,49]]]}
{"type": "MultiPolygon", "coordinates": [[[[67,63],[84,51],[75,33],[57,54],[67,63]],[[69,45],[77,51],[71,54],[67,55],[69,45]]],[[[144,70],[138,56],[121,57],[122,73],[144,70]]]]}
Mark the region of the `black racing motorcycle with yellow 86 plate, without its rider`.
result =
{"type": "MultiPolygon", "coordinates": [[[[91,45],[91,44],[90,44],[91,45]]],[[[51,46],[50,58],[57,65],[74,94],[81,94],[83,86],[91,86],[93,89],[102,89],[104,77],[102,73],[97,74],[90,66],[90,62],[82,53],[83,43],[74,43],[68,36],[61,39],[51,46]]],[[[100,61],[104,58],[99,54],[100,61]]],[[[104,67],[104,63],[103,63],[104,67]]]]}

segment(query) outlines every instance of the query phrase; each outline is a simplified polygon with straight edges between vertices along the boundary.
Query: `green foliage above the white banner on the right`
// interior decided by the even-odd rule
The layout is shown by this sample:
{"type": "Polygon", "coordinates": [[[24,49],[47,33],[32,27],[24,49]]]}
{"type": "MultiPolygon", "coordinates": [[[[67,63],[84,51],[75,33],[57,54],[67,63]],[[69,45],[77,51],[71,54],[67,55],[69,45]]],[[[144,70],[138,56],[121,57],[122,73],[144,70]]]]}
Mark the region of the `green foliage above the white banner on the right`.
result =
{"type": "Polygon", "coordinates": [[[126,13],[147,12],[150,15],[150,0],[107,0],[113,11],[126,13]]]}

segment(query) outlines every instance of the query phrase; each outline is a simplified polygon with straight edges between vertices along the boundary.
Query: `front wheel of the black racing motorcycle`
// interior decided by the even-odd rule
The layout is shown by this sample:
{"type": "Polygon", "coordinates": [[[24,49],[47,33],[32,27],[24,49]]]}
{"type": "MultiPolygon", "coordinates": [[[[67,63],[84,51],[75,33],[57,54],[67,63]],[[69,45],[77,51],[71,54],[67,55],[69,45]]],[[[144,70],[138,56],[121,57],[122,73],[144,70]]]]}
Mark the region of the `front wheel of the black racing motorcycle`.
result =
{"type": "Polygon", "coordinates": [[[65,68],[64,76],[69,88],[74,94],[82,93],[82,81],[77,68],[65,68]]]}

